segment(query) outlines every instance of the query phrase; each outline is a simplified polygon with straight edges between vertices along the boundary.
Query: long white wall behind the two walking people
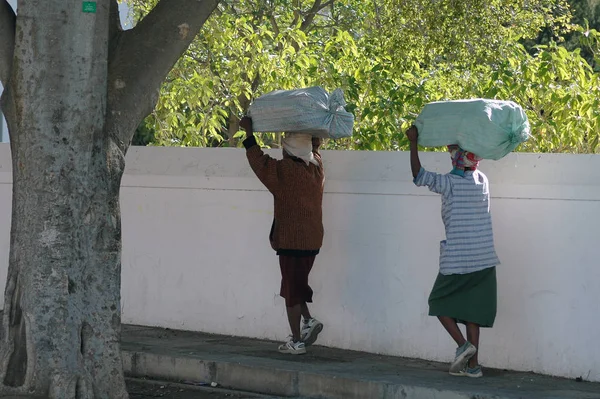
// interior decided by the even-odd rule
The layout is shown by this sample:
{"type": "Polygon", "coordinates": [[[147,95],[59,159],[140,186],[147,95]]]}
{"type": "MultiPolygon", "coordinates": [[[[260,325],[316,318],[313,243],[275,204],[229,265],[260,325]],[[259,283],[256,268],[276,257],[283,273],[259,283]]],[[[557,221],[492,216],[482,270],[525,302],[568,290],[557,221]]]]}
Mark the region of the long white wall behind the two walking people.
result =
{"type": "MultiPolygon", "coordinates": [[[[440,200],[414,187],[407,153],[325,152],[325,242],[311,284],[320,343],[448,361],[427,316],[443,238],[440,200]]],[[[272,198],[243,150],[132,148],[123,179],[123,321],[283,339],[272,198]]],[[[424,154],[431,170],[446,154],[424,154]]],[[[0,270],[10,165],[0,146],[0,270]]],[[[512,154],[491,182],[498,317],[481,361],[600,381],[600,156],[512,154]]],[[[4,276],[0,276],[3,278],[4,276]]],[[[3,281],[0,281],[3,283],[3,281]]]]}

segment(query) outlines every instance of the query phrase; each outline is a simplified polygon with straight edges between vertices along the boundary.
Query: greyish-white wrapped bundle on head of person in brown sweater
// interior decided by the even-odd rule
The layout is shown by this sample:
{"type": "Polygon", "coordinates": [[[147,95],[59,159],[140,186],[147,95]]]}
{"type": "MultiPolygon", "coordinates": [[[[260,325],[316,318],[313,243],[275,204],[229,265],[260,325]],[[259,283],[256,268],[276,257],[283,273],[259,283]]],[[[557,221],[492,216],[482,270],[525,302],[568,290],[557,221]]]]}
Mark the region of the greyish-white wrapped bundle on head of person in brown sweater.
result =
{"type": "Polygon", "coordinates": [[[316,137],[350,137],[354,115],[344,109],[344,92],[328,94],[315,86],[276,90],[258,97],[248,109],[256,132],[308,133],[316,137]]]}

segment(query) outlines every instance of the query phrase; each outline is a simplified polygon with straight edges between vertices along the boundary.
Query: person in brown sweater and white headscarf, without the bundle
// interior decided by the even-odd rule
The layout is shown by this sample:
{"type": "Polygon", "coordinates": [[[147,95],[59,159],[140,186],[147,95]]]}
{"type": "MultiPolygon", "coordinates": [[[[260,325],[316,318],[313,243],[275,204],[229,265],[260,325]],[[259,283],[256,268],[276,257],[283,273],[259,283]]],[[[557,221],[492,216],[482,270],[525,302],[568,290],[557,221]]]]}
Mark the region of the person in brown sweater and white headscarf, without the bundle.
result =
{"type": "Polygon", "coordinates": [[[246,131],[243,144],[250,167],[273,194],[275,203],[269,240],[279,256],[280,295],[285,299],[292,331],[279,352],[303,354],[323,330],[323,323],[311,316],[307,305],[313,296],[308,275],[323,244],[321,139],[286,134],[283,159],[277,160],[258,146],[249,117],[242,118],[240,126],[246,131]]]}

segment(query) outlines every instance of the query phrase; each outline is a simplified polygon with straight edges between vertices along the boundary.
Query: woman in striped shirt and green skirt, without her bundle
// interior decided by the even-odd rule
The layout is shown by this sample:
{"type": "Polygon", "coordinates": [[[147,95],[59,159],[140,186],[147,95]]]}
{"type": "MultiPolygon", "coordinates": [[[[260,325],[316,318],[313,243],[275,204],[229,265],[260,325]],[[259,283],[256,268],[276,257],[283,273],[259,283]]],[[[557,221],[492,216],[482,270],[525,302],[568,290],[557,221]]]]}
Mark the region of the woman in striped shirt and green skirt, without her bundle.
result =
{"type": "Polygon", "coordinates": [[[481,377],[478,362],[481,327],[496,318],[496,266],[490,193],[487,177],[477,170],[479,158],[456,145],[448,146],[453,169],[432,173],[421,166],[418,131],[406,131],[410,165],[417,186],[426,186],[442,198],[446,239],[440,243],[440,270],[429,295],[429,315],[437,316],[458,348],[450,374],[481,377]],[[458,323],[466,325],[465,339],[458,323]]]}

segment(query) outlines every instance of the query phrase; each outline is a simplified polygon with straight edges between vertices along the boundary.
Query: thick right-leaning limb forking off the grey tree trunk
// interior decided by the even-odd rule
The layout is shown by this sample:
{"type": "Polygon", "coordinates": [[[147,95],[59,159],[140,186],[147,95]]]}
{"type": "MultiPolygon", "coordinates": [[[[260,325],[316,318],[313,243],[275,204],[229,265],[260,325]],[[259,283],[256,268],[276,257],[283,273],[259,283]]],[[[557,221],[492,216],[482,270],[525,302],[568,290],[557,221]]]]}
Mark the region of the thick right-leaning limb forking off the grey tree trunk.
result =
{"type": "Polygon", "coordinates": [[[107,130],[123,152],[152,112],[162,82],[219,0],[160,0],[134,29],[122,32],[109,58],[107,130]]]}

